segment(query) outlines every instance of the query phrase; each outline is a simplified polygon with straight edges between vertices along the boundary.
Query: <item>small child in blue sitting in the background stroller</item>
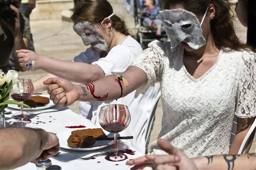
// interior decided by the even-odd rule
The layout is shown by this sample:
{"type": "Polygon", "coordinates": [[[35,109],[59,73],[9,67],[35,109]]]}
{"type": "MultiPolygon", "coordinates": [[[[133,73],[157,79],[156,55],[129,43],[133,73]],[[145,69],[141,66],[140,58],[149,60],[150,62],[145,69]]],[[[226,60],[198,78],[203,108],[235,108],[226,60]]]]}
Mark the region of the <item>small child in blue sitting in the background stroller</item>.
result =
{"type": "Polygon", "coordinates": [[[143,0],[143,26],[157,29],[156,36],[161,36],[162,22],[158,19],[159,7],[155,6],[155,0],[143,0]]]}

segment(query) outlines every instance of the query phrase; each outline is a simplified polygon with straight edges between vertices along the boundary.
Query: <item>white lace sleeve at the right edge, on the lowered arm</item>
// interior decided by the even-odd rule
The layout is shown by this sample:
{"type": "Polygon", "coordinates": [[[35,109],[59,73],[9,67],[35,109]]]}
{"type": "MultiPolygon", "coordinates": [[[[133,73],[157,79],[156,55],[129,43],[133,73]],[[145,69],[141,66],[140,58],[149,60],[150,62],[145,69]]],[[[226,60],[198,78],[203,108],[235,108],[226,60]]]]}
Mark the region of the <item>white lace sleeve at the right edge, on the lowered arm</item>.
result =
{"type": "Polygon", "coordinates": [[[256,53],[244,51],[240,63],[236,116],[256,116],[256,53]]]}

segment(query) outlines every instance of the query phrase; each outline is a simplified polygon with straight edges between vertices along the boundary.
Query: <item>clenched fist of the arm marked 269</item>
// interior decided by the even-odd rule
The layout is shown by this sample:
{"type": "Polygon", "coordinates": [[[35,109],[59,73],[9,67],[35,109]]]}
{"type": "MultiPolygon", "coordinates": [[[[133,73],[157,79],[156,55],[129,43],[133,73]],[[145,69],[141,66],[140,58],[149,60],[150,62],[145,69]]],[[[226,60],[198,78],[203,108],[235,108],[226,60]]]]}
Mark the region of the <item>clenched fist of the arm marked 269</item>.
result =
{"type": "Polygon", "coordinates": [[[76,85],[61,78],[50,78],[44,81],[48,85],[50,99],[58,107],[67,107],[79,99],[76,85]]]}

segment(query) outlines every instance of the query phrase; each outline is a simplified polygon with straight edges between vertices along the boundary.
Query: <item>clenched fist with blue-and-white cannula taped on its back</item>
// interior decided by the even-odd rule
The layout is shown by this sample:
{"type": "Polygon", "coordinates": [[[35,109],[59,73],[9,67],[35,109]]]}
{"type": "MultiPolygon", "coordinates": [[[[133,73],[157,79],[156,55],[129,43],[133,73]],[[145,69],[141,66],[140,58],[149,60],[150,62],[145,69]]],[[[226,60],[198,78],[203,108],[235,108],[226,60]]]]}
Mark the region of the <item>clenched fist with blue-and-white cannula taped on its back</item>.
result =
{"type": "Polygon", "coordinates": [[[44,56],[41,56],[34,51],[28,49],[20,49],[16,51],[18,56],[18,62],[22,69],[30,71],[40,69],[40,59],[44,56]]]}

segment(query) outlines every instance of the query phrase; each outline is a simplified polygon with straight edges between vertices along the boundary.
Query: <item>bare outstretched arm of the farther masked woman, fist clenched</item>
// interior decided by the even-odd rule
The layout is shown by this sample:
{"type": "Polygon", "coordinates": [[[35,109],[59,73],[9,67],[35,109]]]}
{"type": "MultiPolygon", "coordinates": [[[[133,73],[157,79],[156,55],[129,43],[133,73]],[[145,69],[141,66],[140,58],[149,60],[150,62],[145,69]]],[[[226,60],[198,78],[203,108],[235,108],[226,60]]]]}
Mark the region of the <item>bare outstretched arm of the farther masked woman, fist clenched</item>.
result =
{"type": "Polygon", "coordinates": [[[21,49],[18,53],[18,61],[23,69],[29,70],[27,66],[30,61],[34,61],[34,69],[41,69],[57,77],[74,81],[77,83],[90,83],[104,77],[104,72],[98,65],[91,65],[81,62],[64,61],[54,59],[37,53],[21,49]]]}

